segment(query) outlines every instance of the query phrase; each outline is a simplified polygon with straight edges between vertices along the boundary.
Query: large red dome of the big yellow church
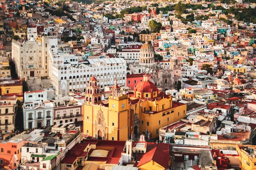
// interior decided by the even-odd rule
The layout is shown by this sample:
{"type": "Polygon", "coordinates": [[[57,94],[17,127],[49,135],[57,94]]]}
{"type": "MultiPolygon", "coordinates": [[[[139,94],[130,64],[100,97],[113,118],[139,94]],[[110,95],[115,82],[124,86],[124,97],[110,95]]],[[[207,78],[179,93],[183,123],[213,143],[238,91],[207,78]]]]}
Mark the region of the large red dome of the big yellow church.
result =
{"type": "Polygon", "coordinates": [[[139,92],[157,91],[157,87],[154,85],[153,82],[148,80],[148,76],[145,75],[144,77],[143,77],[144,80],[142,82],[139,82],[135,87],[135,91],[139,91],[139,92]],[[147,77],[147,79],[145,79],[144,77],[147,77]]]}

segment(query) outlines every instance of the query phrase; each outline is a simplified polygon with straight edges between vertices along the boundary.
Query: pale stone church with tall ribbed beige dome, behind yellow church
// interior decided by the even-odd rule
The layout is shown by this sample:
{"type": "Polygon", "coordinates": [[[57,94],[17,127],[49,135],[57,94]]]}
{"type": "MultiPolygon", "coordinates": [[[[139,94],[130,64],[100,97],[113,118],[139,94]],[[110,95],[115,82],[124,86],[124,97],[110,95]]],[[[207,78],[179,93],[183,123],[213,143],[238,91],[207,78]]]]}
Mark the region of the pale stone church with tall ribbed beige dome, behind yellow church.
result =
{"type": "Polygon", "coordinates": [[[149,74],[151,82],[162,91],[177,89],[177,82],[182,82],[180,60],[171,57],[169,62],[155,62],[154,47],[148,42],[140,48],[139,63],[129,64],[128,67],[128,74],[149,74]]]}

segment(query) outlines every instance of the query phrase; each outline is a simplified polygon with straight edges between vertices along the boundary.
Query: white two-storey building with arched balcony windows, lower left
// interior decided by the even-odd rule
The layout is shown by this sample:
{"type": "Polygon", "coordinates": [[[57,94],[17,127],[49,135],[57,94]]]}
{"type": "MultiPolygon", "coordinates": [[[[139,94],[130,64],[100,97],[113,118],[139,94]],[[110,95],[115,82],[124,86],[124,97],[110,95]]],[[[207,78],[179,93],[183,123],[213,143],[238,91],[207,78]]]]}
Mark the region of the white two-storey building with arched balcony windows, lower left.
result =
{"type": "Polygon", "coordinates": [[[53,104],[47,100],[47,91],[26,91],[23,115],[24,129],[53,125],[53,104]]]}

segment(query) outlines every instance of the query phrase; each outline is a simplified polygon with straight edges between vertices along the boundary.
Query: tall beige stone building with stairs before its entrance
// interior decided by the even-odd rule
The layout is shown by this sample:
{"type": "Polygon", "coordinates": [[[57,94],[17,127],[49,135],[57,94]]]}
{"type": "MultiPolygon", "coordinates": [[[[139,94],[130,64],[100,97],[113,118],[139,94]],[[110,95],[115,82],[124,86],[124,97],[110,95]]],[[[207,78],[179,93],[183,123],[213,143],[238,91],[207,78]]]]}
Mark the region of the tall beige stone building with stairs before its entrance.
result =
{"type": "Polygon", "coordinates": [[[58,39],[55,36],[42,37],[41,42],[32,37],[20,43],[12,40],[12,61],[20,79],[46,77],[49,75],[49,51],[57,51],[58,39]]]}

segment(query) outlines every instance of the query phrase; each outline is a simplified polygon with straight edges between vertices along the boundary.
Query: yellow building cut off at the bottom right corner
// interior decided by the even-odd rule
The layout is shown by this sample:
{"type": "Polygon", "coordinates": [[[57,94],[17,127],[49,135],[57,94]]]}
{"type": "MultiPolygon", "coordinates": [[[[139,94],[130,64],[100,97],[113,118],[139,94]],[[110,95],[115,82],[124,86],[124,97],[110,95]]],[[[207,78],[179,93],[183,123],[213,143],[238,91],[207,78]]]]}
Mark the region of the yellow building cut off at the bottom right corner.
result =
{"type": "Polygon", "coordinates": [[[236,145],[236,151],[239,153],[239,167],[241,170],[256,170],[256,146],[236,145]]]}

